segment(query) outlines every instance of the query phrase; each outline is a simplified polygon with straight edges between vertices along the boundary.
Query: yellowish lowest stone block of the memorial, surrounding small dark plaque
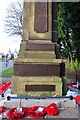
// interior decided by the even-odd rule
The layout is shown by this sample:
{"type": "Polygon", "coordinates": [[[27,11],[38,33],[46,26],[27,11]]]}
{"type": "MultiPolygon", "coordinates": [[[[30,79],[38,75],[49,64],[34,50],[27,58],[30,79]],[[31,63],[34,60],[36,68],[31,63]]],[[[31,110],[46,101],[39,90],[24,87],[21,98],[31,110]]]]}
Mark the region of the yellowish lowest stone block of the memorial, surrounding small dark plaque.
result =
{"type": "MultiPolygon", "coordinates": [[[[46,87],[45,87],[46,88],[46,87]]],[[[11,84],[11,92],[12,94],[17,95],[33,95],[33,96],[52,96],[58,93],[59,95],[62,95],[62,79],[60,77],[56,76],[14,76],[12,78],[12,84],[11,84]],[[35,90],[26,90],[25,86],[36,86],[39,85],[48,86],[48,90],[44,90],[44,88],[35,90]],[[51,86],[51,90],[49,90],[49,86],[51,86]],[[55,88],[52,88],[52,86],[55,88]]]]}

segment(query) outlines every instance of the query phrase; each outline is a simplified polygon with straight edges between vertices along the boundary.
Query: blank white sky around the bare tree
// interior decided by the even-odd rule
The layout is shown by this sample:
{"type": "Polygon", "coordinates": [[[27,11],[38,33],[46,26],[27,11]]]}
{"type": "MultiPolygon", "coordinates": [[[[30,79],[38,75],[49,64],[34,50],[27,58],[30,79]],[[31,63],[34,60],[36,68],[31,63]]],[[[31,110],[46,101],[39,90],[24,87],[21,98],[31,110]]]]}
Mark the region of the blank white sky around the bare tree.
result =
{"type": "Polygon", "coordinates": [[[0,3],[0,53],[7,54],[9,49],[13,53],[15,49],[19,51],[21,40],[19,37],[10,37],[4,32],[4,20],[6,16],[6,9],[11,2],[16,0],[2,0],[0,3]]]}

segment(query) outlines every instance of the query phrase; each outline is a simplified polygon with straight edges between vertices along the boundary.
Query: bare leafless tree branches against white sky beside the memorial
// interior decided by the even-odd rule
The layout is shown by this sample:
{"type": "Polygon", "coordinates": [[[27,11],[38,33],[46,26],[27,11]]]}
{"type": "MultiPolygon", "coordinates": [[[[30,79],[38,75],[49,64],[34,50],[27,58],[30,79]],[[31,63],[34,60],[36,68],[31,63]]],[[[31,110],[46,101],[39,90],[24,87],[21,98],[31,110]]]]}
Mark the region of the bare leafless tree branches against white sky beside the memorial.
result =
{"type": "Polygon", "coordinates": [[[23,1],[12,2],[5,17],[5,32],[9,36],[22,37],[23,30],[23,1]]]}

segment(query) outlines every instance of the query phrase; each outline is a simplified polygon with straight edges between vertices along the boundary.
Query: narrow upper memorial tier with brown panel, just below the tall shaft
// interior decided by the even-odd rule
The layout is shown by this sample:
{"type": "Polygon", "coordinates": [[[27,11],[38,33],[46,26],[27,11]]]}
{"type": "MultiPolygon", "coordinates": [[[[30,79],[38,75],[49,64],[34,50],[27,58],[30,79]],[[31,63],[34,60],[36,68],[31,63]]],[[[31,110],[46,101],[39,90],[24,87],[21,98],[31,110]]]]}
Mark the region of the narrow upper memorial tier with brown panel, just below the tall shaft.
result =
{"type": "Polygon", "coordinates": [[[25,51],[29,49],[55,51],[55,43],[52,43],[51,40],[25,40],[21,43],[20,49],[21,51],[25,51]]]}

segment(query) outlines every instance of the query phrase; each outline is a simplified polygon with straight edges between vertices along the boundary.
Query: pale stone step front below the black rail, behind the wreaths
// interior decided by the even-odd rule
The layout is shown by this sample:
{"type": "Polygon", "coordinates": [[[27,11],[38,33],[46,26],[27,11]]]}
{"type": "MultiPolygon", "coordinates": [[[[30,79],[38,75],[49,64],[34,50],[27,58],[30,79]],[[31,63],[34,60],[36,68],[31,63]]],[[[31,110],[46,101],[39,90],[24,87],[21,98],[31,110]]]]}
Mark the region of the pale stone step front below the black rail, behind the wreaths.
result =
{"type": "Polygon", "coordinates": [[[77,104],[75,100],[67,100],[64,102],[65,99],[40,99],[40,100],[20,100],[20,99],[15,99],[15,100],[10,100],[10,101],[5,101],[4,102],[4,107],[6,108],[13,108],[13,107],[19,107],[20,106],[20,101],[21,101],[21,106],[23,107],[31,107],[31,106],[42,106],[46,107],[50,105],[51,103],[56,103],[59,108],[77,108],[77,104]]]}

